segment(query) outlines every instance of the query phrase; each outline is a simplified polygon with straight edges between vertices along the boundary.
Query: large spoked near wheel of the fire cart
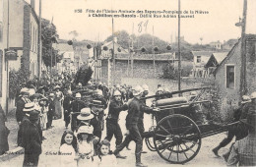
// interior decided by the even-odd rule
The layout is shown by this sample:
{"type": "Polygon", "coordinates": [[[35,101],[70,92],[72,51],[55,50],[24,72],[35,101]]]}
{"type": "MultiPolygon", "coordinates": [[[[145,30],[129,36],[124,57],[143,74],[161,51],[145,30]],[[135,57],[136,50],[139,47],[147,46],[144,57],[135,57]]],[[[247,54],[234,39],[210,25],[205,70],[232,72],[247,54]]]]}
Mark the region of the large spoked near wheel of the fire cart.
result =
{"type": "Polygon", "coordinates": [[[201,133],[192,119],[173,114],[160,120],[155,129],[154,144],[162,159],[184,164],[198,154],[201,133]]]}

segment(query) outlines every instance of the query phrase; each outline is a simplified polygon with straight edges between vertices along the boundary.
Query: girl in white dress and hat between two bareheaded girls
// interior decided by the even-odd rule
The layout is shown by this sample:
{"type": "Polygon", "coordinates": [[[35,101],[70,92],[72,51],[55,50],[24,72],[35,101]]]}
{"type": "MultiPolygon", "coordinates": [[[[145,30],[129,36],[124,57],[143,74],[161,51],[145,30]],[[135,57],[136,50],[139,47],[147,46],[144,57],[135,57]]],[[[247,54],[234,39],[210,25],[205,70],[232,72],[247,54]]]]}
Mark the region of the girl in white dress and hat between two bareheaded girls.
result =
{"type": "Polygon", "coordinates": [[[94,127],[81,126],[77,132],[78,139],[78,167],[91,167],[94,158],[94,127]]]}

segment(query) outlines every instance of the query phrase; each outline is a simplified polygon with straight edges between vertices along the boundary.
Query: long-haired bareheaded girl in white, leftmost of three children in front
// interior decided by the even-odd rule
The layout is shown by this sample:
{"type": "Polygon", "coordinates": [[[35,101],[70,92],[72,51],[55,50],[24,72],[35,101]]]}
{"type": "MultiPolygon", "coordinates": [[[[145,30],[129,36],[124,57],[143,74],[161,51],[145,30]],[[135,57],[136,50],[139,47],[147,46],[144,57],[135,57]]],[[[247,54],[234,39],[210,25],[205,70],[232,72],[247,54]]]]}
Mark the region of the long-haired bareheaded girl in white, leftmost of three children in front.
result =
{"type": "Polygon", "coordinates": [[[60,148],[59,148],[59,156],[60,156],[60,166],[64,167],[76,167],[77,159],[76,156],[77,151],[77,138],[74,136],[73,132],[67,130],[63,133],[60,148]]]}

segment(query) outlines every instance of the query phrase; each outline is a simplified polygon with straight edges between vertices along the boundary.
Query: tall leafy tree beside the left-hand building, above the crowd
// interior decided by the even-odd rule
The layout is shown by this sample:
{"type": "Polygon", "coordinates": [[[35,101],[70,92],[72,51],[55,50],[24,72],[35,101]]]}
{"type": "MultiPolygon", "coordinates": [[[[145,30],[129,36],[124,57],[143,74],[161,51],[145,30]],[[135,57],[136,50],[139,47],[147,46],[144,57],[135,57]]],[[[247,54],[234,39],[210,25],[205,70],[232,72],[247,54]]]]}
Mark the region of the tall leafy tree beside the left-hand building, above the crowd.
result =
{"type": "Polygon", "coordinates": [[[58,54],[58,50],[52,47],[52,43],[57,42],[58,33],[56,27],[46,19],[41,19],[41,34],[42,34],[42,60],[44,64],[49,67],[52,62],[52,67],[55,66],[56,61],[62,59],[61,55],[58,54]],[[51,55],[52,52],[52,55],[51,55]]]}

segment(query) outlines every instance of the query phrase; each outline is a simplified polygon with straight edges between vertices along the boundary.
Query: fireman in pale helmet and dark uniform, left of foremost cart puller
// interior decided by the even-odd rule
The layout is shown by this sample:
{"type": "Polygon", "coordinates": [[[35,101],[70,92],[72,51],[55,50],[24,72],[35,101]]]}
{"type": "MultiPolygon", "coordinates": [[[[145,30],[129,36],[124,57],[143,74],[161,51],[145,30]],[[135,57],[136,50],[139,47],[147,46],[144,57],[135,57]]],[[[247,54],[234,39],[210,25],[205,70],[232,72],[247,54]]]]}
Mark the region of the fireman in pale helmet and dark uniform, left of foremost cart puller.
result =
{"type": "MultiPolygon", "coordinates": [[[[127,110],[127,104],[123,104],[121,100],[121,92],[115,90],[113,93],[113,99],[109,104],[108,115],[106,118],[106,137],[105,139],[111,140],[113,135],[116,139],[115,144],[116,147],[121,144],[123,140],[123,135],[121,128],[118,124],[119,114],[121,111],[127,110]]],[[[116,155],[119,158],[125,158],[125,156],[121,156],[119,153],[116,155]]]]}

